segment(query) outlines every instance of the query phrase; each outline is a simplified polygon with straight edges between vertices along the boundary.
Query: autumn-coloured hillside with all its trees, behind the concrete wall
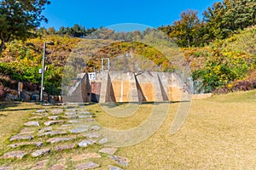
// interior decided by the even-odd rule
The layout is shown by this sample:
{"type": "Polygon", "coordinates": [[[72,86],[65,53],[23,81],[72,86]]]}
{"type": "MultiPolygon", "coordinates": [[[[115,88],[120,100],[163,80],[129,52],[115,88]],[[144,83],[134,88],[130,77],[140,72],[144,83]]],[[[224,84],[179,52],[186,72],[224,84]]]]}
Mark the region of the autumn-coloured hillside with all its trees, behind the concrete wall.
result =
{"type": "MultiPolygon", "coordinates": [[[[22,8],[17,4],[9,5],[13,5],[13,10],[21,14],[22,8]]],[[[31,10],[31,14],[37,13],[33,11],[34,8],[31,10]]],[[[38,10],[42,11],[43,6],[38,10]]],[[[148,36],[152,31],[149,28],[145,31],[115,32],[102,27],[85,29],[76,24],[73,27],[62,26],[59,30],[53,27],[32,29],[38,27],[40,21],[46,20],[42,16],[35,18],[36,24],[30,23],[32,25],[29,26],[20,20],[23,24],[23,30],[20,30],[19,26],[15,26],[17,20],[9,16],[8,3],[1,3],[0,12],[0,20],[5,23],[0,26],[0,99],[7,94],[17,94],[18,82],[24,82],[24,88],[28,91],[40,89],[41,75],[38,70],[42,67],[44,42],[54,42],[54,45],[46,48],[48,70],[44,84],[48,94],[61,94],[64,65],[69,54],[82,41],[86,44],[95,39],[115,41],[86,61],[83,71],[100,70],[102,57],[113,59],[125,53],[139,54],[154,61],[157,67],[161,67],[160,71],[174,71],[178,66],[160,51],[137,42],[137,39],[145,37],[149,41],[154,40],[154,37],[148,36]],[[6,17],[9,17],[8,22],[6,17]]],[[[26,19],[26,13],[24,15],[26,19]]],[[[224,0],[212,4],[203,16],[200,20],[197,11],[187,10],[180,15],[180,20],[152,32],[162,31],[167,39],[177,43],[185,58],[183,65],[189,65],[192,71],[195,93],[227,93],[256,88],[255,1],[224,0]]],[[[83,49],[79,50],[83,54],[83,49]]]]}

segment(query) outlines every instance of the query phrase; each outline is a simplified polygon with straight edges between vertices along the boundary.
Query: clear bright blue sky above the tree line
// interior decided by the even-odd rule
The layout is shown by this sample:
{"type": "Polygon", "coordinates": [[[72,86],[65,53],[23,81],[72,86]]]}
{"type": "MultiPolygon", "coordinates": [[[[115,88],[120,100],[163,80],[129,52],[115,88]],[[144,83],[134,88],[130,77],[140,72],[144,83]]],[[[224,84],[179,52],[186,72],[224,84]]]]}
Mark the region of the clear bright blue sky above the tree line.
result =
{"type": "Polygon", "coordinates": [[[44,16],[46,28],[73,26],[79,24],[87,28],[111,26],[120,23],[137,23],[152,27],[171,25],[179,20],[179,15],[186,9],[198,10],[199,17],[207,7],[217,0],[51,0],[46,6],[44,16]]]}

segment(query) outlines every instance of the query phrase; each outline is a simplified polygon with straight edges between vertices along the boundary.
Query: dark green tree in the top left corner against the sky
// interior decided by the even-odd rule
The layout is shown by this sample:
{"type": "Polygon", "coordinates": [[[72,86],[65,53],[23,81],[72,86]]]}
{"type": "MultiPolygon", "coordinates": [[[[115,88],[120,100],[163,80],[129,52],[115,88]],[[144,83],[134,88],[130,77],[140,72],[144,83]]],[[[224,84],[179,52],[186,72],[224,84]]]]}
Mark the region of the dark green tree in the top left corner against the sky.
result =
{"type": "Polygon", "coordinates": [[[48,0],[1,0],[0,1],[0,54],[5,42],[12,38],[25,40],[32,29],[47,19],[42,14],[48,0]]]}

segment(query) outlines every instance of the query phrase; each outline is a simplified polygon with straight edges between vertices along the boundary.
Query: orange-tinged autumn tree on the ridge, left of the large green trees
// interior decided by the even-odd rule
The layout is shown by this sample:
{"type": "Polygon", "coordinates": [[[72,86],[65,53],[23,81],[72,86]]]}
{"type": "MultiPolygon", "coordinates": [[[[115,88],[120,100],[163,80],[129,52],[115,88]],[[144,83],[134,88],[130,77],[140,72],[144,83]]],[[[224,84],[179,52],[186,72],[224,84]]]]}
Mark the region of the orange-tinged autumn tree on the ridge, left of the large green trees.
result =
{"type": "Polygon", "coordinates": [[[195,32],[200,27],[200,20],[197,17],[197,11],[187,10],[181,14],[181,20],[173,23],[173,28],[169,37],[176,38],[178,45],[190,47],[195,44],[195,32]]]}

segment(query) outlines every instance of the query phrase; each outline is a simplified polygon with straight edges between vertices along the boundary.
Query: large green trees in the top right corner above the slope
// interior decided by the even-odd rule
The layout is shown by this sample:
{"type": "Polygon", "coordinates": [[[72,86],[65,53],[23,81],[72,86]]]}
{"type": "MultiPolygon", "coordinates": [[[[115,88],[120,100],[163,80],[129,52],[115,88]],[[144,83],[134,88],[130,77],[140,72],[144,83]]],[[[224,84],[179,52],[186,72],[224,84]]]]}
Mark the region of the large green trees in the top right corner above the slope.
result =
{"type": "Polygon", "coordinates": [[[224,39],[233,32],[256,24],[255,0],[224,0],[204,12],[208,41],[224,39]]]}

